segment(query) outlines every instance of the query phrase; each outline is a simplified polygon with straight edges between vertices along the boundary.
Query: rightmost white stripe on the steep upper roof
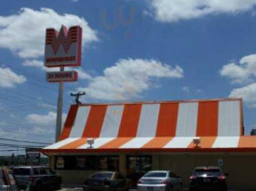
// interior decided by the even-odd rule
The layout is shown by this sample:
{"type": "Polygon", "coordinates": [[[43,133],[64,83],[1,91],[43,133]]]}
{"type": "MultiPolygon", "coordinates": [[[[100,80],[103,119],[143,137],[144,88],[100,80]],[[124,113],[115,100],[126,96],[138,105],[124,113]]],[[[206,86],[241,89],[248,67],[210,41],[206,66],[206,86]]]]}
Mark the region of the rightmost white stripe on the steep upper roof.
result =
{"type": "Polygon", "coordinates": [[[240,136],[240,101],[220,101],[218,136],[240,136]]]}

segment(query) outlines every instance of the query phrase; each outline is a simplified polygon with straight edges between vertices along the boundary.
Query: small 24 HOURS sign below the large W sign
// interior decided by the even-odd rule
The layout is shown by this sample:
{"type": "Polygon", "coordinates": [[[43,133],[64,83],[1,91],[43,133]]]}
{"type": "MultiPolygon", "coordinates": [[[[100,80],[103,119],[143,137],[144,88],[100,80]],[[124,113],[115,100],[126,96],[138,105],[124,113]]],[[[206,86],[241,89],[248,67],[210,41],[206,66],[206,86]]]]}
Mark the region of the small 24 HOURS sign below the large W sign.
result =
{"type": "Polygon", "coordinates": [[[77,81],[78,73],[76,71],[48,72],[46,73],[46,79],[49,82],[77,81]]]}

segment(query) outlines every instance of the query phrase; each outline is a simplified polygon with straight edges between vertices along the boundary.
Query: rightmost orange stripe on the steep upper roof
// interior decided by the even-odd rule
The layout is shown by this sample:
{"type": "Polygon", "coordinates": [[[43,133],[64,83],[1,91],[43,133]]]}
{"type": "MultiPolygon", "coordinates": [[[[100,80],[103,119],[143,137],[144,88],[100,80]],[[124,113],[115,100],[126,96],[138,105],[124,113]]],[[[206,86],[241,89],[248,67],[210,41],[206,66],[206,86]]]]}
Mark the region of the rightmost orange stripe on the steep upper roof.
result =
{"type": "Polygon", "coordinates": [[[199,102],[197,136],[218,136],[218,101],[199,102]]]}

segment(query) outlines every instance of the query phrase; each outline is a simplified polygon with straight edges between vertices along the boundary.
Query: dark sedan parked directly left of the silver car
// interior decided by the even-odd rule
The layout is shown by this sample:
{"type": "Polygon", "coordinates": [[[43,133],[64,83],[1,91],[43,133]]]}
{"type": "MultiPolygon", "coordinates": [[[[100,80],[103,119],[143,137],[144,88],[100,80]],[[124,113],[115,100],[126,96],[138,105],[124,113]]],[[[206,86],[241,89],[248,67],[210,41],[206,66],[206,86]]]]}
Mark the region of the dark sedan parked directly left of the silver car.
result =
{"type": "Polygon", "coordinates": [[[85,191],[128,191],[129,180],[119,172],[97,172],[83,183],[85,191]]]}

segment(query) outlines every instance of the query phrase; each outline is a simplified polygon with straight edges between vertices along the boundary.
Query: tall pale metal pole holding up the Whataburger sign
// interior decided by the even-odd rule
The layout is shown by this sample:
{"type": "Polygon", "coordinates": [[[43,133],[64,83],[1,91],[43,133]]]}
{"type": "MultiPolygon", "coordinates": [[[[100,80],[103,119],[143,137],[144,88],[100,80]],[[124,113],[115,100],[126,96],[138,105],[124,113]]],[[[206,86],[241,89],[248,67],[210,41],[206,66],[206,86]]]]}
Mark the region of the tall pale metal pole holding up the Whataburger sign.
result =
{"type": "MultiPolygon", "coordinates": [[[[64,67],[60,67],[60,72],[64,71],[64,67]]],[[[56,121],[56,142],[60,136],[62,126],[62,107],[63,107],[63,82],[58,85],[58,108],[57,108],[57,121],[56,121]]]]}

